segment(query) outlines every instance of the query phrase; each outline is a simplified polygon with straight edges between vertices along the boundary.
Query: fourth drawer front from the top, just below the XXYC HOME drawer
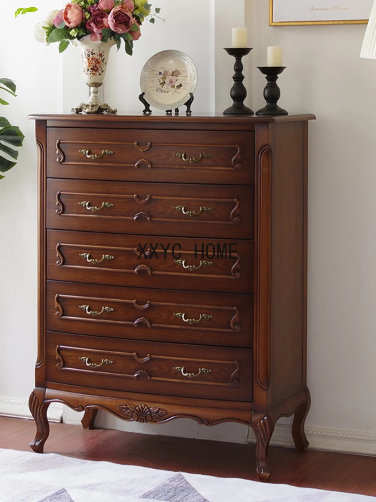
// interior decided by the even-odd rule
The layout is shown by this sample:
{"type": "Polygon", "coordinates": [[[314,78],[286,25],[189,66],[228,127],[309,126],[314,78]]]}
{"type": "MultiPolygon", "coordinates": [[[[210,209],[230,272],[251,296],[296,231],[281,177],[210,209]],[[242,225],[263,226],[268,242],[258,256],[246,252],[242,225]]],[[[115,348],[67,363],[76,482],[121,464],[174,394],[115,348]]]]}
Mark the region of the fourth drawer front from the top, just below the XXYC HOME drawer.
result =
{"type": "Polygon", "coordinates": [[[48,281],[47,329],[252,347],[253,295],[176,293],[48,281]]]}

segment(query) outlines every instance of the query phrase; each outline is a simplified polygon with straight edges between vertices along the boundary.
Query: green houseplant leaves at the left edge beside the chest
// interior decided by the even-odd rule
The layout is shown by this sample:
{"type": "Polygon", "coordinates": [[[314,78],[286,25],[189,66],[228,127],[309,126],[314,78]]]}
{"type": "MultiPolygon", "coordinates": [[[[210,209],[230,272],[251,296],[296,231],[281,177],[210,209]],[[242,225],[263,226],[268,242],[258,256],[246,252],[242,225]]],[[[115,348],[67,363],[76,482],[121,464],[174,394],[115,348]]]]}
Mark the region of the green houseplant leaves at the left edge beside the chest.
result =
{"type": "MultiPolygon", "coordinates": [[[[9,78],[0,78],[0,89],[16,97],[16,84],[9,78]]],[[[8,105],[8,101],[0,97],[1,105],[8,105]]],[[[17,126],[12,126],[9,120],[0,116],[0,173],[6,173],[17,164],[19,152],[13,147],[22,147],[25,136],[17,126]],[[4,155],[5,154],[5,157],[4,155]]],[[[4,176],[0,174],[0,180],[4,176]]]]}

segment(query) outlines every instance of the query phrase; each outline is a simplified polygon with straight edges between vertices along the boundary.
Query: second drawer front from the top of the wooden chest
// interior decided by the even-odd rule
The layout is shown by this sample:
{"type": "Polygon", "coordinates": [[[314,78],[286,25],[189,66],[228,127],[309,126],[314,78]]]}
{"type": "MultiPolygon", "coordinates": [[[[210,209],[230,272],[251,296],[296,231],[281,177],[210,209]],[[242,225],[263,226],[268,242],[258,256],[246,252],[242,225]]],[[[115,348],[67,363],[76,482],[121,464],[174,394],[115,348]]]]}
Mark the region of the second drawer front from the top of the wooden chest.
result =
{"type": "Polygon", "coordinates": [[[253,186],[48,180],[47,226],[253,238],[253,186]]]}

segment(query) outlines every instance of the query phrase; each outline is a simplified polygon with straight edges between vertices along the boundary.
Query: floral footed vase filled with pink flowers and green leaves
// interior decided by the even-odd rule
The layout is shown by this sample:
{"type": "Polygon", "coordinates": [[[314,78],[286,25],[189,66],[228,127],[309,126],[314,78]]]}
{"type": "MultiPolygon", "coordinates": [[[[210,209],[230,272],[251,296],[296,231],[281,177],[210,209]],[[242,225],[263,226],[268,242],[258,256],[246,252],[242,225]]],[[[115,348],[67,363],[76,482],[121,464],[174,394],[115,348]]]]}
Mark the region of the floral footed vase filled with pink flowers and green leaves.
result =
{"type": "MultiPolygon", "coordinates": [[[[19,11],[16,15],[23,14],[19,11]]],[[[140,38],[145,18],[149,17],[150,23],[154,23],[159,12],[160,9],[156,8],[151,14],[151,5],[147,0],[71,0],[64,9],[53,11],[36,27],[37,40],[47,44],[59,43],[59,52],[65,51],[71,42],[78,42],[82,47],[82,69],[90,87],[90,98],[72,111],[116,112],[106,103],[102,104],[98,97],[109,51],[114,45],[119,50],[123,41],[125,52],[131,56],[133,42],[140,38]]]]}

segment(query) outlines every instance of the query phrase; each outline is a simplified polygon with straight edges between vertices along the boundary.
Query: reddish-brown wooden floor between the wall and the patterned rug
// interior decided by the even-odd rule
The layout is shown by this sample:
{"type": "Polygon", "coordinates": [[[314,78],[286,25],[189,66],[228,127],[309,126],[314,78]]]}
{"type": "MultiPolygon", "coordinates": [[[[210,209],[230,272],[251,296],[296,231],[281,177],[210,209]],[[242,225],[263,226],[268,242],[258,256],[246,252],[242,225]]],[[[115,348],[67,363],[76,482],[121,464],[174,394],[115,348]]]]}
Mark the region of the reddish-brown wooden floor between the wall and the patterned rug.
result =
{"type": "MultiPolygon", "coordinates": [[[[152,425],[150,427],[153,427],[152,425]]],[[[156,426],[157,427],[157,426],[156,426]]],[[[31,420],[0,417],[0,448],[31,451],[31,420]]],[[[109,429],[85,431],[81,426],[51,424],[46,453],[87,460],[257,480],[255,447],[133,434],[109,429]]],[[[376,458],[341,453],[270,448],[270,482],[376,496],[376,458]]]]}

